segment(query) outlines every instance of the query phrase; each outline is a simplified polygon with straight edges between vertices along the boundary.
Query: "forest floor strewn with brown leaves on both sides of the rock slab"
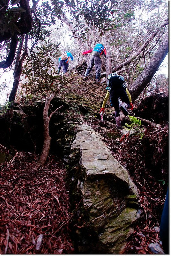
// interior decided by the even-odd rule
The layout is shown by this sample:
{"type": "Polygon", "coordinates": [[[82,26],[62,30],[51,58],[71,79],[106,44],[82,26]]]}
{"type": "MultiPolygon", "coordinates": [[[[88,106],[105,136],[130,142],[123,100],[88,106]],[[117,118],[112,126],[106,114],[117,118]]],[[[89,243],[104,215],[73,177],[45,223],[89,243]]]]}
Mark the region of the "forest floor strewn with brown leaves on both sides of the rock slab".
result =
{"type": "MultiPolygon", "coordinates": [[[[80,83],[74,88],[75,93],[81,95],[83,100],[90,99],[85,103],[87,107],[84,105],[84,108],[94,104],[93,106],[96,105],[98,109],[97,98],[101,103],[106,93],[103,85],[94,82],[80,83]]],[[[67,93],[71,96],[71,88],[68,87],[67,93]]],[[[124,254],[154,254],[149,244],[160,245],[159,227],[167,183],[163,185],[162,181],[159,181],[161,174],[156,170],[155,164],[153,165],[153,160],[148,158],[147,141],[148,144],[149,141],[155,143],[156,137],[160,137],[160,143],[167,141],[167,126],[164,135],[147,127],[145,136],[140,140],[136,136],[118,135],[118,130],[105,120],[101,121],[92,116],[88,118],[83,116],[83,119],[102,136],[115,159],[128,169],[138,187],[143,216],[128,239],[124,254]]],[[[109,119],[112,119],[111,115],[109,119]]],[[[154,147],[159,147],[157,142],[154,147]]],[[[1,150],[7,151],[3,146],[1,150]]],[[[154,155],[155,150],[152,149],[152,152],[154,155]]],[[[17,152],[9,162],[0,166],[0,254],[74,254],[75,252],[70,230],[72,212],[70,212],[69,191],[65,183],[65,163],[56,155],[49,154],[45,167],[36,168],[38,157],[39,155],[35,153],[17,152]]],[[[155,163],[157,157],[157,155],[154,157],[155,163]]],[[[167,179],[168,173],[165,177],[167,179]]]]}

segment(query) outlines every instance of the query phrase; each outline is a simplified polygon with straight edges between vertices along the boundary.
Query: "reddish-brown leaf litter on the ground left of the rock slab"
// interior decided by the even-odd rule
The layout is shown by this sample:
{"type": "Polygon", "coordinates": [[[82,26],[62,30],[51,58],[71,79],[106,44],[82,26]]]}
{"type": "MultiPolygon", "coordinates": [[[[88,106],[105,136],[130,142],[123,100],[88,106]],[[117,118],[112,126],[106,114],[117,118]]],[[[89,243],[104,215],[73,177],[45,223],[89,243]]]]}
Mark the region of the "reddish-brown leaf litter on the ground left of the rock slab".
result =
{"type": "Polygon", "coordinates": [[[52,156],[45,168],[36,169],[36,160],[18,152],[1,164],[0,253],[73,253],[66,170],[52,156]]]}

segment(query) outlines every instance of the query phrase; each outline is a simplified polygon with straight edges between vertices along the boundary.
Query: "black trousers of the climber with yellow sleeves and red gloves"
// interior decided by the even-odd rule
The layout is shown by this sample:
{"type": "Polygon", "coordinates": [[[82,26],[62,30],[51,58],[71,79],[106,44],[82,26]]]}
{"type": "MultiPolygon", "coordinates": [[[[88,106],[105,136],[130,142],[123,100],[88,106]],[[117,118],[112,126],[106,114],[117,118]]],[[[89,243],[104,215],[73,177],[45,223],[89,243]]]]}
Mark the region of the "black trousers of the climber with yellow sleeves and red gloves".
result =
{"type": "Polygon", "coordinates": [[[120,116],[119,110],[119,100],[118,97],[125,103],[127,103],[128,108],[130,108],[130,101],[125,89],[122,86],[112,86],[110,91],[110,100],[112,106],[115,108],[115,117],[120,116]]]}

